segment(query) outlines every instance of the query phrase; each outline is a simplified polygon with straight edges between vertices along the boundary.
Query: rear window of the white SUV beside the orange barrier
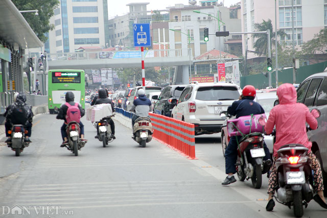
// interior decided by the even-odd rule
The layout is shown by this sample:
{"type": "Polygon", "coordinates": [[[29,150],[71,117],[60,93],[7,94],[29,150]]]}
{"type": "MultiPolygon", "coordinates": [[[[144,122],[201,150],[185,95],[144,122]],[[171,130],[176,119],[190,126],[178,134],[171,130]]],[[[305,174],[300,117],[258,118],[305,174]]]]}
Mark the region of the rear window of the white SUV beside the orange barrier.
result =
{"type": "Polygon", "coordinates": [[[201,101],[224,101],[238,100],[240,93],[236,87],[211,86],[200,87],[196,93],[196,100],[201,101]]]}

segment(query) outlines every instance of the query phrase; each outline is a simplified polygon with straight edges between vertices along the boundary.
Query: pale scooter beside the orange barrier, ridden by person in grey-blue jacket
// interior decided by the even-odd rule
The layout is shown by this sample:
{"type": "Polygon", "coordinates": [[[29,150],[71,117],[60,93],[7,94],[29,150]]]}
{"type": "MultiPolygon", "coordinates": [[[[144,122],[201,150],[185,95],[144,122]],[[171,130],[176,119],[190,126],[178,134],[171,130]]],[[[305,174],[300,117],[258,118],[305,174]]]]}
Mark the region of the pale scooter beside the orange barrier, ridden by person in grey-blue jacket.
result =
{"type": "Polygon", "coordinates": [[[152,124],[151,119],[147,116],[140,116],[135,120],[133,126],[133,139],[139,143],[143,148],[146,147],[147,142],[152,140],[152,124]]]}

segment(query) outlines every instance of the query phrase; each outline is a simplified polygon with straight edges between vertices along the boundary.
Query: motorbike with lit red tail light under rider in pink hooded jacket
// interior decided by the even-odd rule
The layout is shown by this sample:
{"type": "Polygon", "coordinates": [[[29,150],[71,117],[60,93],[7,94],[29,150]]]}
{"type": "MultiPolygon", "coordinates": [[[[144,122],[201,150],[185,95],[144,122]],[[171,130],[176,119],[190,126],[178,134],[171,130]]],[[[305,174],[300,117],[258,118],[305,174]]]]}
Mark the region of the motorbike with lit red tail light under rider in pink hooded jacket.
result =
{"type": "MultiPolygon", "coordinates": [[[[313,109],[311,113],[315,118],[320,116],[320,111],[317,109],[313,109]]],[[[310,130],[307,126],[307,131],[310,130]]],[[[275,131],[272,135],[275,135],[275,131]]],[[[307,208],[312,199],[316,201],[312,163],[308,152],[309,149],[302,144],[285,144],[277,151],[275,164],[278,184],[274,197],[278,203],[290,209],[293,206],[295,217],[302,217],[303,205],[307,208]]]]}

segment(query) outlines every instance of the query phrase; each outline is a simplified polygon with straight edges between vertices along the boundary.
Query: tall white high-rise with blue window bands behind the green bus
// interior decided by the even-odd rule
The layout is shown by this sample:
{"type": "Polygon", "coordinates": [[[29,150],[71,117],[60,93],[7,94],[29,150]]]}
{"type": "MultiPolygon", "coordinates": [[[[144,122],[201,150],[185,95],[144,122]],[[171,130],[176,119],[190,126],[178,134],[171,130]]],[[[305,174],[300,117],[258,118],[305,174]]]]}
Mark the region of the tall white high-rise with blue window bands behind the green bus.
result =
{"type": "Polygon", "coordinates": [[[107,0],[60,0],[54,12],[50,22],[55,29],[49,33],[46,51],[65,53],[81,46],[109,45],[107,0]]]}

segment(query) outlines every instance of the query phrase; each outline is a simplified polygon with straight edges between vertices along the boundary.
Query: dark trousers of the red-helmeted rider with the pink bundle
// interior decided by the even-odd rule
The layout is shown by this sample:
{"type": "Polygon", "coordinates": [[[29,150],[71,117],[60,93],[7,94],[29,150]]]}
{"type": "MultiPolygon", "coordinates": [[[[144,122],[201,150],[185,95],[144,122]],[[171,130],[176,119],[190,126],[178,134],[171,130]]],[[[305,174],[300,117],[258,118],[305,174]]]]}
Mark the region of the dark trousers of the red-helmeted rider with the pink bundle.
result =
{"type": "MultiPolygon", "coordinates": [[[[235,174],[236,173],[235,164],[236,164],[237,156],[238,156],[238,153],[237,153],[238,144],[237,144],[236,137],[238,137],[238,141],[240,141],[242,138],[242,136],[231,136],[228,146],[225,151],[226,174],[229,174],[229,173],[235,174]]],[[[265,154],[266,154],[266,156],[264,157],[264,160],[271,159],[269,149],[267,148],[265,142],[264,142],[264,150],[265,150],[265,154]]]]}

